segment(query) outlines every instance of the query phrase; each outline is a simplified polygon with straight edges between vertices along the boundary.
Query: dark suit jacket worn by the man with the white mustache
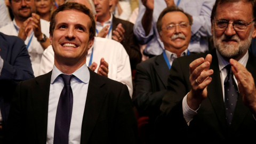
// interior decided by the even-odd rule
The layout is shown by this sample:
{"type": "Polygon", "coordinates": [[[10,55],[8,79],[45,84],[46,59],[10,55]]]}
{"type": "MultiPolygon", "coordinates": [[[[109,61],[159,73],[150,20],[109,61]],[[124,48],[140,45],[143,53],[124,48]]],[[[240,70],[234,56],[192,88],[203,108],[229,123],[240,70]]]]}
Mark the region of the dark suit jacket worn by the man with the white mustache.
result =
{"type": "Polygon", "coordinates": [[[137,65],[137,91],[133,104],[141,115],[154,116],[160,113],[159,107],[167,89],[169,74],[163,53],[137,65]]]}

